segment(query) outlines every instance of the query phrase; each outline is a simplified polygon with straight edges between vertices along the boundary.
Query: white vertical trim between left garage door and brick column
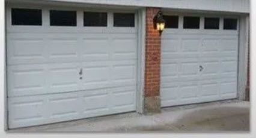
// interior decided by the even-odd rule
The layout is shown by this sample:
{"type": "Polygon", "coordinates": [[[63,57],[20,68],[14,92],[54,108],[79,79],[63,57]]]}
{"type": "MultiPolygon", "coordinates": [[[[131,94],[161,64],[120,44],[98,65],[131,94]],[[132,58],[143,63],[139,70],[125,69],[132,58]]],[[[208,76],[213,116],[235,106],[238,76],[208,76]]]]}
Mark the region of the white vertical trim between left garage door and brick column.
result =
{"type": "Polygon", "coordinates": [[[144,72],[145,72],[145,8],[138,11],[138,82],[136,112],[142,114],[144,107],[144,72]]]}

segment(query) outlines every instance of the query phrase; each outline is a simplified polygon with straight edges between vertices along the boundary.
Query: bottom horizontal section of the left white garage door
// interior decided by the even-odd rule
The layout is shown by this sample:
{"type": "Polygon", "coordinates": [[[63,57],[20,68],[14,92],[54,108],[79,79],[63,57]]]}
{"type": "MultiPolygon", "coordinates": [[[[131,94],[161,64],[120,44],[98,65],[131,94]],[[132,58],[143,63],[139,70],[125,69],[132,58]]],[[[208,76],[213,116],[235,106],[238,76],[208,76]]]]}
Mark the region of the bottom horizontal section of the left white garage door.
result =
{"type": "Polygon", "coordinates": [[[135,111],[134,98],[134,86],[10,97],[9,127],[25,127],[135,111]],[[115,99],[112,93],[120,99],[115,99]]]}

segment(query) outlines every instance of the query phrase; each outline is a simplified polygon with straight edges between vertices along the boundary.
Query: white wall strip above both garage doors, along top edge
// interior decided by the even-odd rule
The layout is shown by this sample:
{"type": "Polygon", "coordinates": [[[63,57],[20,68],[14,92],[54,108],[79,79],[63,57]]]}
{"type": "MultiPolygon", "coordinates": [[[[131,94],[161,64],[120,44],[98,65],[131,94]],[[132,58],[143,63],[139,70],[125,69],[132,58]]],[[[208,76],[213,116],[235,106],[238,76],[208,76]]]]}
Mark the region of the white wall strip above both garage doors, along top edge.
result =
{"type": "MultiPolygon", "coordinates": [[[[19,0],[5,0],[19,1],[19,0]]],[[[32,1],[32,0],[23,0],[32,1]]],[[[39,1],[39,0],[34,0],[39,1]]],[[[79,2],[87,4],[128,5],[189,10],[230,11],[249,13],[249,0],[41,0],[50,2],[79,2]]]]}

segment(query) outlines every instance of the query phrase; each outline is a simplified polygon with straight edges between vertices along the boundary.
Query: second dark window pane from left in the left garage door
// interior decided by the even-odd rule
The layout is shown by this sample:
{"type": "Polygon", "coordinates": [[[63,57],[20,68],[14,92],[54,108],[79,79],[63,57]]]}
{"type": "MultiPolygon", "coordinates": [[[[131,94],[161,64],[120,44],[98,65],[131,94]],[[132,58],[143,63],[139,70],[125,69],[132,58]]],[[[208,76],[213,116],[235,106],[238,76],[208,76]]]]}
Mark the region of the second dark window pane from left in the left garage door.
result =
{"type": "Polygon", "coordinates": [[[76,26],[76,11],[50,10],[50,26],[76,26]]]}

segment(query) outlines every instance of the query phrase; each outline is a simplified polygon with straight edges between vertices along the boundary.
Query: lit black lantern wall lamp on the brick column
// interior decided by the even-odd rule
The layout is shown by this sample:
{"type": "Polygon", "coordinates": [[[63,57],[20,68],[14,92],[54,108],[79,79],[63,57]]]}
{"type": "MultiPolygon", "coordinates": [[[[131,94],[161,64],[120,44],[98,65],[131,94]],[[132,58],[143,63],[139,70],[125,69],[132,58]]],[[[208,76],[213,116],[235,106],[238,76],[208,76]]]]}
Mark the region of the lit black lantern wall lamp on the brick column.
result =
{"type": "Polygon", "coordinates": [[[165,20],[163,19],[162,11],[157,12],[156,16],[154,16],[153,22],[154,29],[158,30],[161,35],[163,29],[165,29],[165,20]]]}

